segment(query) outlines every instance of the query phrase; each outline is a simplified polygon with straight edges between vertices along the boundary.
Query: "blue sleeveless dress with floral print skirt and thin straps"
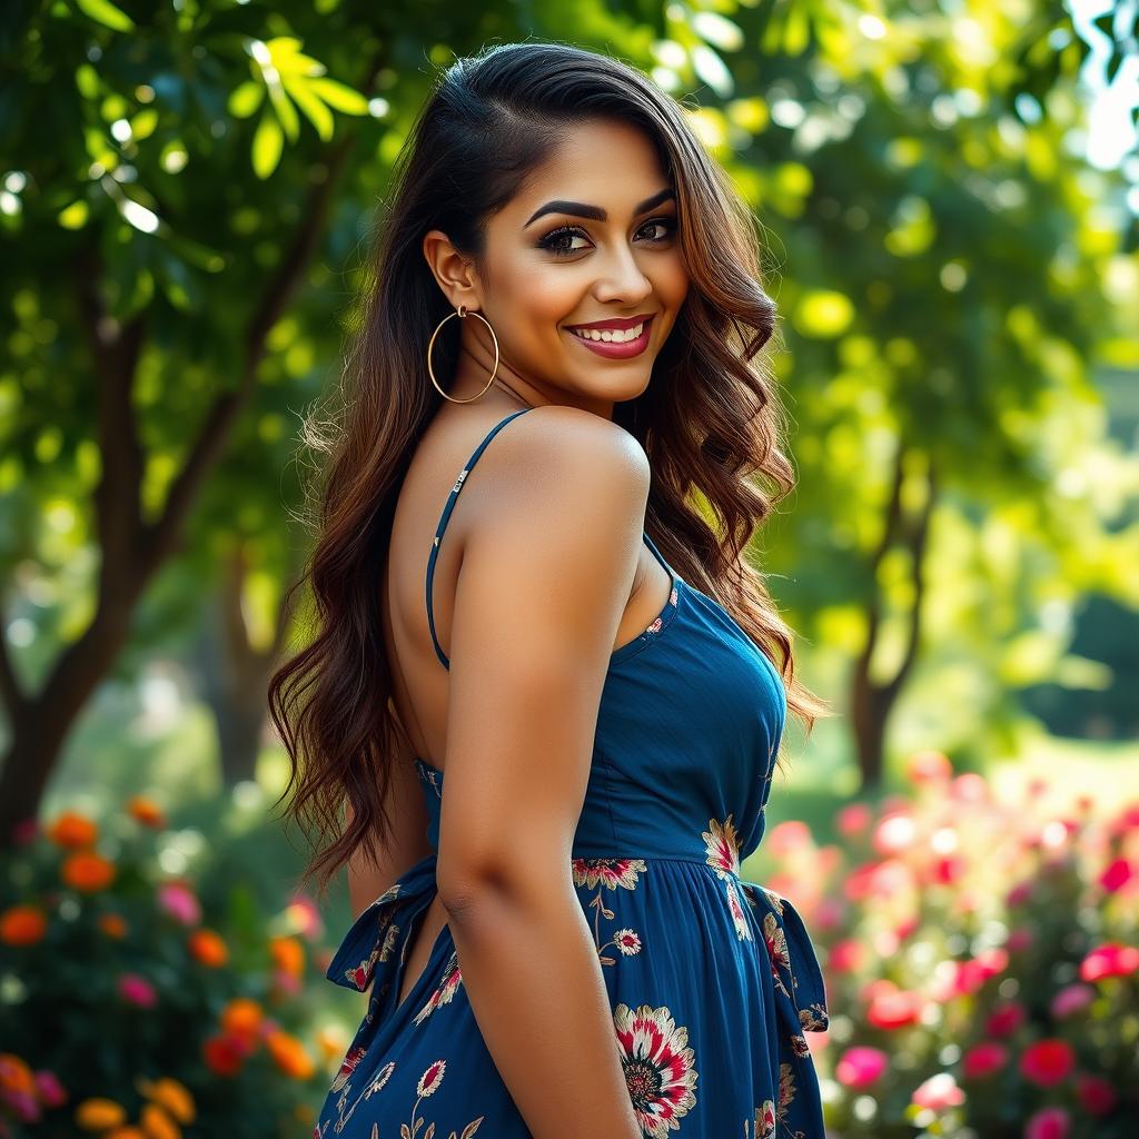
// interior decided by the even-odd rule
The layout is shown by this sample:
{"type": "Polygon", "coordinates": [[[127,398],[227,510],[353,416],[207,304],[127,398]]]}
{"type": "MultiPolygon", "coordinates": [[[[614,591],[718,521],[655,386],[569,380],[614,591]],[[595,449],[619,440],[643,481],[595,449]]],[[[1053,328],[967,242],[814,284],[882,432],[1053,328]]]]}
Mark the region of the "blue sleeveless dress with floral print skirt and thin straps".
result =
{"type": "MultiPolygon", "coordinates": [[[[480,443],[440,518],[427,613],[444,666],[432,615],[440,539],[483,449],[527,410],[480,443]]],[[[609,659],[568,867],[629,1096],[652,1139],[823,1139],[803,1035],[828,1023],[819,962],[792,903],[739,872],[763,836],[786,693],[740,625],[644,536],[672,591],[609,659]]],[[[313,1137],[523,1139],[531,1132],[483,1041],[449,926],[396,1006],[407,947],[436,890],[443,801],[443,772],[415,762],[433,853],[360,915],[328,967],[330,981],[368,993],[368,1009],[313,1137]]]]}

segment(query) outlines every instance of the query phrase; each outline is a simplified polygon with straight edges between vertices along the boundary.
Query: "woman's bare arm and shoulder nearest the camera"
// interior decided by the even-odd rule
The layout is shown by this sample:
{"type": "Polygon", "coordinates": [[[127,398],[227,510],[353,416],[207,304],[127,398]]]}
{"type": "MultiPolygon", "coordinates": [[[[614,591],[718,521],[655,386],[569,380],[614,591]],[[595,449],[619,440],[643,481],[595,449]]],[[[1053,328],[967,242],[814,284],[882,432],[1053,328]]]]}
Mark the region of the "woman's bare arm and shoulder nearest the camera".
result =
{"type": "Polygon", "coordinates": [[[571,847],[649,476],[622,428],[541,407],[498,436],[462,499],[439,890],[535,1139],[641,1137],[571,847]]]}

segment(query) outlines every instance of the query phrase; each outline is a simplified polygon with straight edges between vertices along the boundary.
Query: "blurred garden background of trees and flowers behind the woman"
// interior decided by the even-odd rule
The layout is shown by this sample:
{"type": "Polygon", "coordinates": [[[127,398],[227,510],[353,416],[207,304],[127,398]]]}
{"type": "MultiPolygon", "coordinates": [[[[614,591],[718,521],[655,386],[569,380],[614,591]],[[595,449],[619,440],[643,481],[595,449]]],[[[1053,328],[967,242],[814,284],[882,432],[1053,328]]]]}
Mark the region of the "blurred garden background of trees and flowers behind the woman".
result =
{"type": "Polygon", "coordinates": [[[764,233],[800,481],[754,556],[838,714],[744,872],[817,939],[828,1129],[1139,1134],[1137,19],[6,6],[0,1136],[311,1130],[363,1006],[265,724],[298,427],[435,69],[525,39],[652,74],[764,233]]]}

